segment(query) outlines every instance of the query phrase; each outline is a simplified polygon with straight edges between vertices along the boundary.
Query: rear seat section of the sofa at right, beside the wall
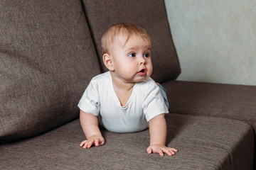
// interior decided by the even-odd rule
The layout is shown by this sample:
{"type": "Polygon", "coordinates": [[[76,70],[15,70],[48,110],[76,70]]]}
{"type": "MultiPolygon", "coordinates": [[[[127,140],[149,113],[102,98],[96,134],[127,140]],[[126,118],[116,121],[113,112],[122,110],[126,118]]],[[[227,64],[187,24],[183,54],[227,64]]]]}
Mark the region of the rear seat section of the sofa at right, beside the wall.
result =
{"type": "Polygon", "coordinates": [[[256,86],[169,81],[171,113],[242,120],[256,130],[256,86]]]}

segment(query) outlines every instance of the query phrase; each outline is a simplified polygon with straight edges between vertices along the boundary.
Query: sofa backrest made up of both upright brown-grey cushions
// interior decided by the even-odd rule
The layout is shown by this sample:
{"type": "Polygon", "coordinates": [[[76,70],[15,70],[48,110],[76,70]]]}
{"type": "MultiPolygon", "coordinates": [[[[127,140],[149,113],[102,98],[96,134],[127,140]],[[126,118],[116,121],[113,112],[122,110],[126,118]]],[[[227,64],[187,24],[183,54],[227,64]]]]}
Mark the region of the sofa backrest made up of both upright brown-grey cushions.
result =
{"type": "Polygon", "coordinates": [[[153,79],[178,77],[164,0],[0,1],[0,142],[78,118],[87,84],[106,71],[101,35],[119,22],[149,33],[153,79]]]}

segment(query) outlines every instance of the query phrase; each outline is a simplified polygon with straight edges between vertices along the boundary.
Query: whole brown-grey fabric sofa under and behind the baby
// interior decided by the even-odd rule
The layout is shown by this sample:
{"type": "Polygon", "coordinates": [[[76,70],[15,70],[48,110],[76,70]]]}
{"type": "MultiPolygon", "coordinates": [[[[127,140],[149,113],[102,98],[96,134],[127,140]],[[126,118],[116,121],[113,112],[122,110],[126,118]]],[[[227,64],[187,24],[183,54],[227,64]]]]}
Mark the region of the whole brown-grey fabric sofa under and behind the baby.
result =
{"type": "Polygon", "coordinates": [[[181,73],[164,1],[0,1],[0,169],[255,169],[256,86],[176,81],[181,73]],[[166,145],[149,130],[82,149],[78,101],[105,72],[103,31],[132,22],[151,36],[152,78],[167,90],[166,145]]]}

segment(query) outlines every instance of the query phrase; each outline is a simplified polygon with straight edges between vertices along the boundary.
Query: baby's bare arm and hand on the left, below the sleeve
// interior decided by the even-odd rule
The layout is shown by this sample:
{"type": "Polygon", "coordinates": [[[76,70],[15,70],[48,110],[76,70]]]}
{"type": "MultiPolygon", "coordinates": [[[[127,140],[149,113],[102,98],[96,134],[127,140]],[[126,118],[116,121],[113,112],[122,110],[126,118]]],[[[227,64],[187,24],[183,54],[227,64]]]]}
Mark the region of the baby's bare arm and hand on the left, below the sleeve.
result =
{"type": "Polygon", "coordinates": [[[105,144],[95,115],[80,110],[80,123],[87,138],[81,142],[80,147],[90,148],[92,145],[100,147],[105,144]]]}

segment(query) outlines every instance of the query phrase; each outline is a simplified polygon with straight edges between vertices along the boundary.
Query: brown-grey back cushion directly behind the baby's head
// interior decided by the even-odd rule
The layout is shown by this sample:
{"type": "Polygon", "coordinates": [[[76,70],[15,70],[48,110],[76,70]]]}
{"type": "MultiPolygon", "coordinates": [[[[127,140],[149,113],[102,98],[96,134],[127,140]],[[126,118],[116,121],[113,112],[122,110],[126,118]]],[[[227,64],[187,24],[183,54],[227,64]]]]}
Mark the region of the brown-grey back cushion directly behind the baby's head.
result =
{"type": "Polygon", "coordinates": [[[181,73],[178,57],[171,38],[164,0],[83,0],[87,21],[97,48],[102,71],[101,36],[115,23],[135,23],[149,33],[152,43],[152,78],[163,82],[176,79],[181,73]],[[157,12],[155,12],[157,11],[157,12]]]}

